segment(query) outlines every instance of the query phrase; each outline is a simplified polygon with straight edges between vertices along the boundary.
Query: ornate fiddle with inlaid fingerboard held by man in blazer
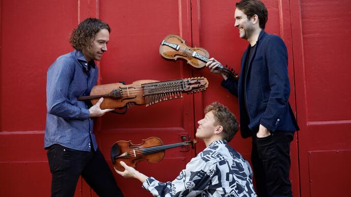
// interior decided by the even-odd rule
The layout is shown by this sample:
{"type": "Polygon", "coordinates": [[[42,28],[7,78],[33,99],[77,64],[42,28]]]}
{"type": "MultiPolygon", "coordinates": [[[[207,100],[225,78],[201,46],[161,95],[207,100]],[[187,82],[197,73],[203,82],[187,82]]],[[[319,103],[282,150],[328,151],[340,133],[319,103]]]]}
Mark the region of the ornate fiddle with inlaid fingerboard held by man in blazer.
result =
{"type": "MultiPolygon", "coordinates": [[[[166,59],[185,59],[192,67],[197,69],[205,67],[210,57],[207,50],[189,47],[185,40],[177,35],[168,35],[163,39],[160,45],[160,55],[166,59]]],[[[228,65],[223,67],[223,65],[219,64],[217,68],[222,70],[227,77],[231,76],[238,80],[239,75],[232,68],[228,68],[228,65]]]]}

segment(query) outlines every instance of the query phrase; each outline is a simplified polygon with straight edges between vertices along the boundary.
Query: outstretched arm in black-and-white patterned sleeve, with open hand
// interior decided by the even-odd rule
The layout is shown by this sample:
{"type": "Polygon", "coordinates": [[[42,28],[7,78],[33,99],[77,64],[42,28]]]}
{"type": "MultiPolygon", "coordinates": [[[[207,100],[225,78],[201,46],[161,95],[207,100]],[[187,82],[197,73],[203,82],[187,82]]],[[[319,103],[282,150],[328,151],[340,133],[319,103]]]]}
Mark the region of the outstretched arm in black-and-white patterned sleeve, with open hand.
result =
{"type": "Polygon", "coordinates": [[[165,183],[159,182],[153,177],[147,177],[139,173],[135,169],[125,165],[121,161],[121,165],[126,169],[124,172],[117,171],[118,174],[125,178],[136,178],[143,183],[143,187],[149,190],[154,196],[185,196],[188,194],[196,195],[204,189],[208,188],[211,181],[209,168],[206,162],[200,157],[193,158],[182,170],[179,176],[173,181],[165,183]]]}

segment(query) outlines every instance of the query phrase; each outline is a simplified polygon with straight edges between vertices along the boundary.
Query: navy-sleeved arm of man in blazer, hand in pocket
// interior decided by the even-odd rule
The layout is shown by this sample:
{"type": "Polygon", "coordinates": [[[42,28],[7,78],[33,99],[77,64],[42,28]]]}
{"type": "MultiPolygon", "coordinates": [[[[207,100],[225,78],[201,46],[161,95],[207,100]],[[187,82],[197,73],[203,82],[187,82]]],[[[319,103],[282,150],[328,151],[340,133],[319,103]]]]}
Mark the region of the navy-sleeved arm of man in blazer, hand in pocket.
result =
{"type": "Polygon", "coordinates": [[[287,73],[287,50],[279,37],[268,41],[266,51],[270,95],[265,113],[260,119],[260,129],[274,132],[288,103],[290,84],[287,73]]]}

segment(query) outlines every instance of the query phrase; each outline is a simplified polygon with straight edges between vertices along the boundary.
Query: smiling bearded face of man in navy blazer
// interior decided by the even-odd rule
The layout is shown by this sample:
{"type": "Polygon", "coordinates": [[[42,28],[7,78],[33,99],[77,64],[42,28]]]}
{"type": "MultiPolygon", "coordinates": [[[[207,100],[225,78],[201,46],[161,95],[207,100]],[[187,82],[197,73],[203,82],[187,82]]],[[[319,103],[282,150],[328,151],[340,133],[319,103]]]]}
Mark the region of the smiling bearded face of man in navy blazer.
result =
{"type": "Polygon", "coordinates": [[[235,17],[234,26],[239,28],[240,38],[246,39],[246,40],[250,39],[255,30],[255,27],[253,25],[254,18],[251,17],[251,19],[248,19],[247,15],[243,11],[239,10],[238,8],[235,9],[234,17],[235,17]]]}

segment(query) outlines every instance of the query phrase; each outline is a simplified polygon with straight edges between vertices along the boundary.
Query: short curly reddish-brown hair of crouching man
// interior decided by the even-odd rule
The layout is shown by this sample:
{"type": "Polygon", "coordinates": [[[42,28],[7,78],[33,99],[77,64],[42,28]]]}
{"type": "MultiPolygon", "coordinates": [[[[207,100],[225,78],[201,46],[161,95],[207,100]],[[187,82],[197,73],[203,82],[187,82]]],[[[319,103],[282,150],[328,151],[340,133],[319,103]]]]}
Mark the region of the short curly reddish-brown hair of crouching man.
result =
{"type": "Polygon", "coordinates": [[[230,141],[238,132],[239,123],[237,117],[232,114],[224,105],[214,102],[207,106],[204,113],[212,112],[215,116],[215,124],[223,126],[223,139],[230,141]]]}

